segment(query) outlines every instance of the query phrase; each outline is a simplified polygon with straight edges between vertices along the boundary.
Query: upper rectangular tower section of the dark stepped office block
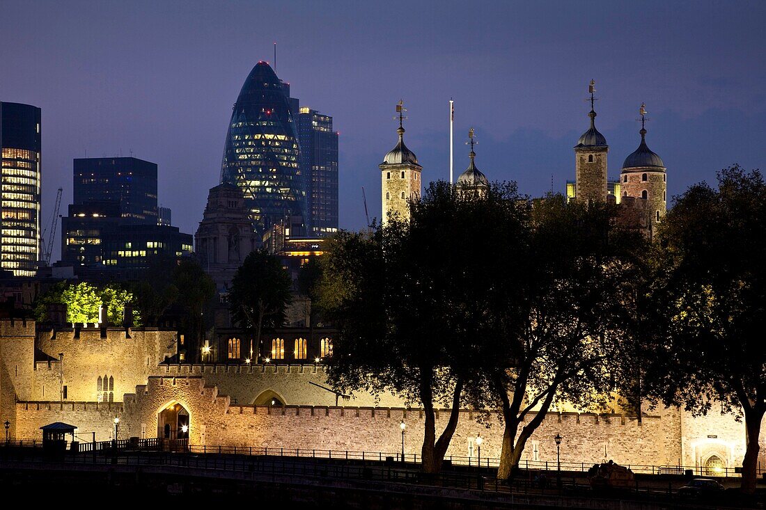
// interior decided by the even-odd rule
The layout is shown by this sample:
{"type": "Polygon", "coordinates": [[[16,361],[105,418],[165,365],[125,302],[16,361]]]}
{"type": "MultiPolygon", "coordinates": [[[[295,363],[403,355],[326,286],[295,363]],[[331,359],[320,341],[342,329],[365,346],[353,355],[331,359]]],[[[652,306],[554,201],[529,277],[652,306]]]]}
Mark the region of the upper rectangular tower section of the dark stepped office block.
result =
{"type": "Polygon", "coordinates": [[[74,160],[74,204],[119,202],[131,224],[157,224],[157,165],[137,158],[74,160]]]}

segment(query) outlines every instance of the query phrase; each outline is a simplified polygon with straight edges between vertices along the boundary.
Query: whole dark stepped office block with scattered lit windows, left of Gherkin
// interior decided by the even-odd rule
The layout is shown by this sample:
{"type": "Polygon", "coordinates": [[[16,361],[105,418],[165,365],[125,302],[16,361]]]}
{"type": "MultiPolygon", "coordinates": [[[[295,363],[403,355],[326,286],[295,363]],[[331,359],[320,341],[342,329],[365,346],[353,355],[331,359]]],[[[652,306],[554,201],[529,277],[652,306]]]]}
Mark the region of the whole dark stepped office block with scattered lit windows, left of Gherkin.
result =
{"type": "Polygon", "coordinates": [[[61,262],[83,280],[133,280],[155,263],[191,257],[192,237],[157,207],[157,165],[136,158],[74,160],[74,204],[61,218],[61,262]]]}

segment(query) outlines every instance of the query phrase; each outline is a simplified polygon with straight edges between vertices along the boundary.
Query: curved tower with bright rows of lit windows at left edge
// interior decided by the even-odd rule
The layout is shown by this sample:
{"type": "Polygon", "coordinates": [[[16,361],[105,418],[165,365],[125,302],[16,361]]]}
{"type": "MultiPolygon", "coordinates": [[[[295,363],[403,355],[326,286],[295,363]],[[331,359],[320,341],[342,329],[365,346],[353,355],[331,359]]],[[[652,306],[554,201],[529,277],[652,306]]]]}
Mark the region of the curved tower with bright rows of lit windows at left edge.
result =
{"type": "Polygon", "coordinates": [[[34,276],[40,253],[40,109],[0,103],[2,208],[0,267],[34,276]]]}

